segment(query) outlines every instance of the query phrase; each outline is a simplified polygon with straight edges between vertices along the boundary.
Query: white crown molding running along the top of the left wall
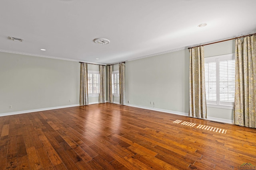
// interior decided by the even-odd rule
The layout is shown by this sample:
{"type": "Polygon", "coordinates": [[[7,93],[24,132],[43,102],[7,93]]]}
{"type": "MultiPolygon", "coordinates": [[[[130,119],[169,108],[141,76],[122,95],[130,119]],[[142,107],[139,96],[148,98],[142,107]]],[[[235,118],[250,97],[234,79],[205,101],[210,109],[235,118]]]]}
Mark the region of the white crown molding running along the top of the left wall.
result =
{"type": "Polygon", "coordinates": [[[39,55],[39,54],[23,53],[23,52],[9,51],[9,50],[3,50],[3,49],[0,49],[0,52],[3,52],[3,53],[12,53],[12,54],[19,54],[19,55],[28,55],[28,56],[34,56],[34,57],[44,57],[44,58],[48,58],[48,59],[75,61],[75,62],[82,62],[82,63],[88,63],[88,64],[106,65],[105,63],[94,63],[94,62],[83,61],[83,60],[65,59],[65,58],[60,58],[60,57],[52,57],[52,56],[48,56],[48,55],[39,55]]]}

